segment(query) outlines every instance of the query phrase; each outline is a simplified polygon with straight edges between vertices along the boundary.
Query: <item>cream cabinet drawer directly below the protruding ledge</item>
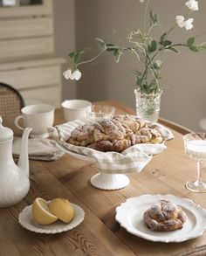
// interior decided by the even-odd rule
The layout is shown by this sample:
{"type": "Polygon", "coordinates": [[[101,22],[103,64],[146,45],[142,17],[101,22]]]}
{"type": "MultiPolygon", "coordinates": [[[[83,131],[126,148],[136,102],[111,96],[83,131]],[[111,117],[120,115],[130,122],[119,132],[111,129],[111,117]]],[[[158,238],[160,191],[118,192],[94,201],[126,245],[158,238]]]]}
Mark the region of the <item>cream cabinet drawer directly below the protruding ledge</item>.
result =
{"type": "Polygon", "coordinates": [[[61,84],[60,66],[43,66],[0,72],[0,81],[19,89],[61,84]]]}

